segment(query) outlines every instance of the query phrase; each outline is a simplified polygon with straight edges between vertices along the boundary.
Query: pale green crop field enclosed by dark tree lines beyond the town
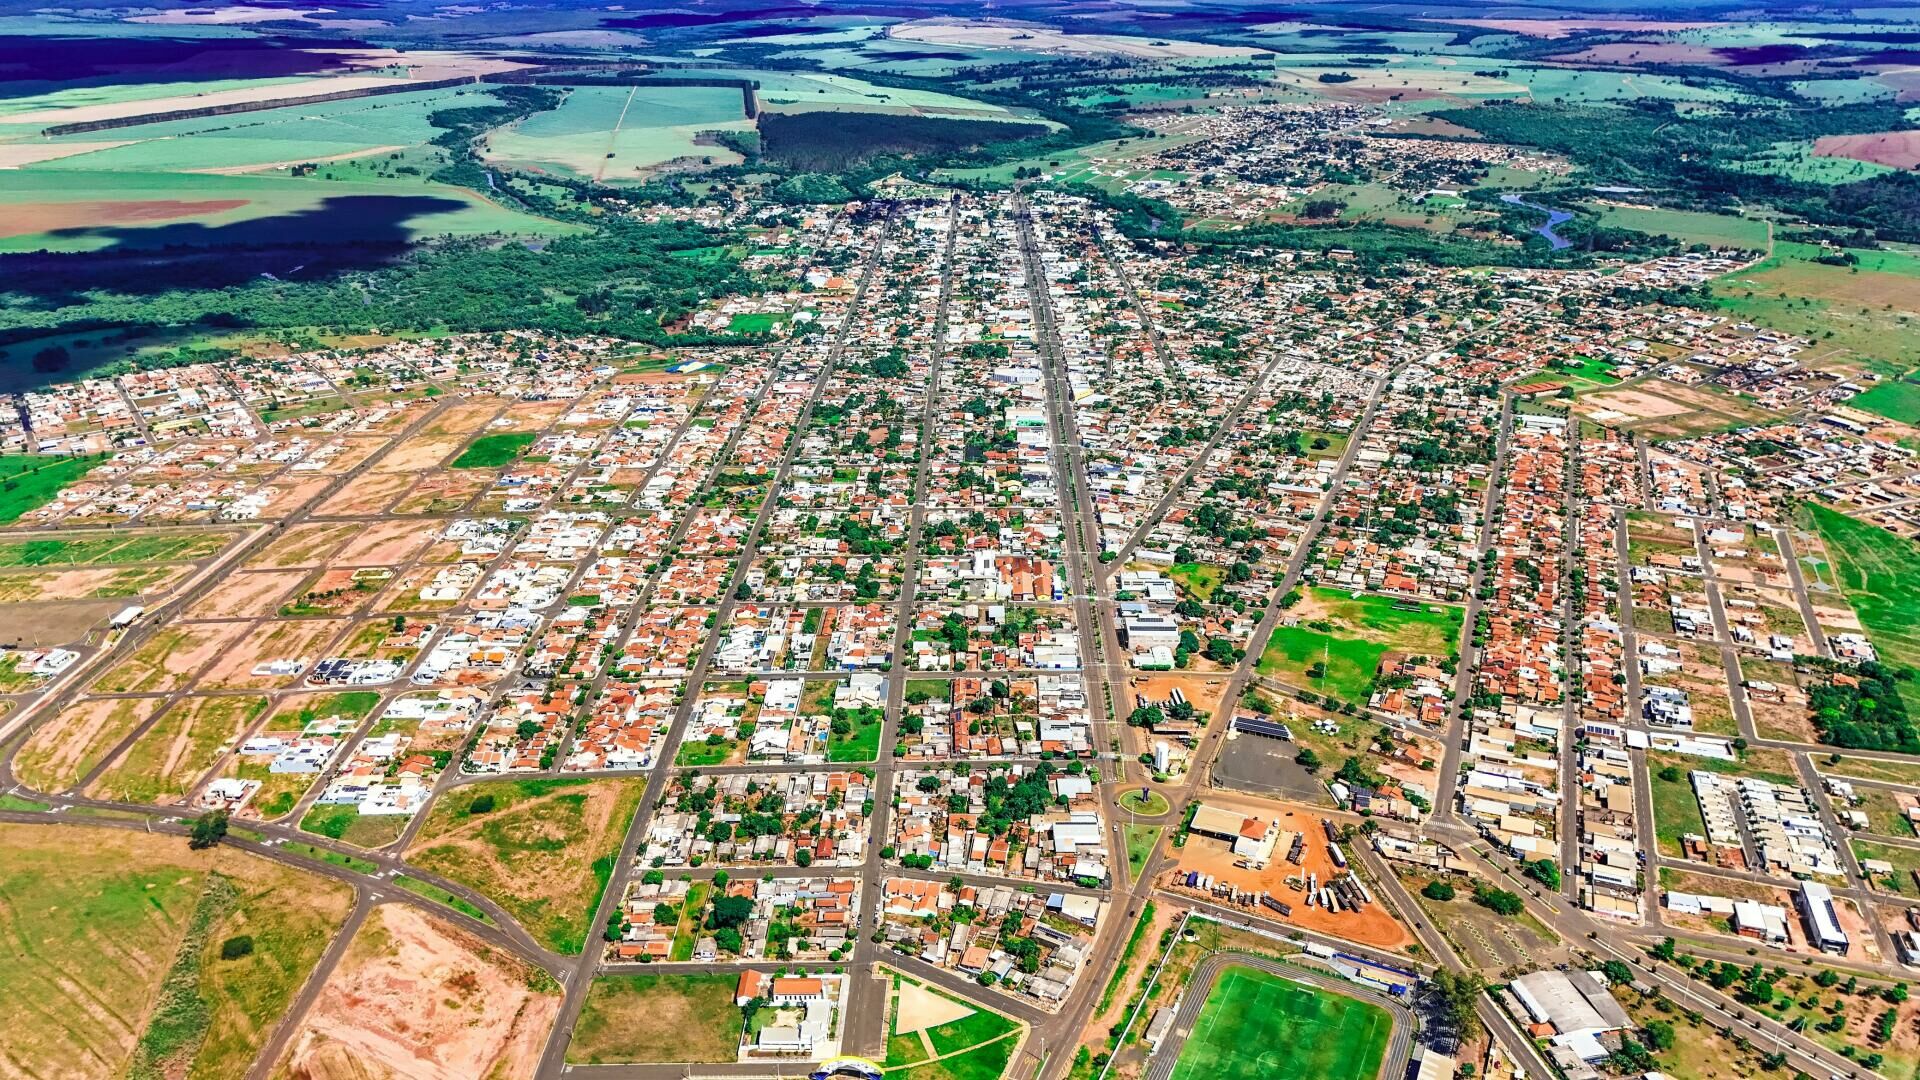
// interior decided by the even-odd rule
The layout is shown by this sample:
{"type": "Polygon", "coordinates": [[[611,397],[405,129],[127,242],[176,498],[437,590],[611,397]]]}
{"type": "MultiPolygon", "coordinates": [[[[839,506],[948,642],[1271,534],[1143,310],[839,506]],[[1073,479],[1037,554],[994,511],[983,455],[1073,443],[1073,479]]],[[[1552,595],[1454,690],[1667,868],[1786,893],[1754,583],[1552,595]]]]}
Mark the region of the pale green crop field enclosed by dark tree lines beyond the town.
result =
{"type": "Polygon", "coordinates": [[[730,86],[572,86],[561,108],[534,113],[488,136],[488,158],[595,181],[641,181],[659,165],[695,158],[739,163],[739,154],[703,138],[710,131],[753,131],[741,92],[730,86]]]}

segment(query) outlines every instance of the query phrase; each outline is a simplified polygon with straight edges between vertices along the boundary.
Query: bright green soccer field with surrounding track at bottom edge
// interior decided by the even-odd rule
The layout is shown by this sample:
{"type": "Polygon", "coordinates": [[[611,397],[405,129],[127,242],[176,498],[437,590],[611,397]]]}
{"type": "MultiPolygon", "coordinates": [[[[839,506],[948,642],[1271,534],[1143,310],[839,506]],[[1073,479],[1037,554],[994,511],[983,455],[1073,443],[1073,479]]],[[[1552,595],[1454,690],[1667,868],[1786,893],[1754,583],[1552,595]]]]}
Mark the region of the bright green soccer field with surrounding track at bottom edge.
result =
{"type": "Polygon", "coordinates": [[[1375,1080],[1392,1028],[1379,1005],[1231,967],[1171,1080],[1375,1080]]]}

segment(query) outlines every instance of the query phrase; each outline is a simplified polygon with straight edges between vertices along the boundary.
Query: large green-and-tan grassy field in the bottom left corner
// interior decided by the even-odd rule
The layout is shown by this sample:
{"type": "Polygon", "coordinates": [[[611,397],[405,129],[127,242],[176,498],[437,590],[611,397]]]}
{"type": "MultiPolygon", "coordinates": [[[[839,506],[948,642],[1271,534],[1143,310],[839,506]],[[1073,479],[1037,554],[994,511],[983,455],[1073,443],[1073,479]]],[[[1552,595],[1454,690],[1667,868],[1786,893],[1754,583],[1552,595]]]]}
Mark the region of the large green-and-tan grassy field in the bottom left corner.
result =
{"type": "Polygon", "coordinates": [[[27,1076],[244,1074],[351,901],[171,836],[0,824],[0,1053],[27,1076]]]}

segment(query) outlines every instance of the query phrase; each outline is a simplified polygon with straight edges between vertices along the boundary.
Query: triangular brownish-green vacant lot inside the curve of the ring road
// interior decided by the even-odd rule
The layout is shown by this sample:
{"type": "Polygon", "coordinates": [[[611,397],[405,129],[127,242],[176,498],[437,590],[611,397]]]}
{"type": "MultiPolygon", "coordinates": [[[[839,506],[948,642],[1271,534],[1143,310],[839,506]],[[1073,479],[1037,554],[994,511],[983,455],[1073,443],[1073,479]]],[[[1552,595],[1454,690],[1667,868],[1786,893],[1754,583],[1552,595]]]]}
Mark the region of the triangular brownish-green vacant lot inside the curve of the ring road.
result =
{"type": "Polygon", "coordinates": [[[492,897],[543,945],[578,953],[643,790],[641,780],[468,784],[434,801],[407,859],[492,897]],[[480,796],[492,811],[472,813],[480,796]]]}

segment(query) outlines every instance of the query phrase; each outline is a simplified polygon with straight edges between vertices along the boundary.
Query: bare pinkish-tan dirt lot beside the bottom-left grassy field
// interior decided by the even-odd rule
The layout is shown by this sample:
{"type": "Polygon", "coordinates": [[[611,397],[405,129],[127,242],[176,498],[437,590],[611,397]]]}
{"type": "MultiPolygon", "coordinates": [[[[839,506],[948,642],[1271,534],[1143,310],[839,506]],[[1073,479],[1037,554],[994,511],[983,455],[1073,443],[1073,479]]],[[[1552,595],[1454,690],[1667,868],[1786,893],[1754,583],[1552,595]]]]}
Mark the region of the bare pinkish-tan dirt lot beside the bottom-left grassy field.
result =
{"type": "Polygon", "coordinates": [[[309,1080],[528,1078],[557,990],[547,972],[386,903],[353,936],[280,1067],[309,1080]]]}

